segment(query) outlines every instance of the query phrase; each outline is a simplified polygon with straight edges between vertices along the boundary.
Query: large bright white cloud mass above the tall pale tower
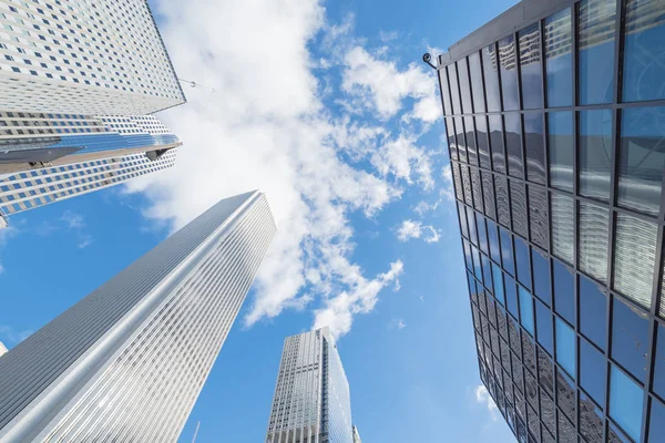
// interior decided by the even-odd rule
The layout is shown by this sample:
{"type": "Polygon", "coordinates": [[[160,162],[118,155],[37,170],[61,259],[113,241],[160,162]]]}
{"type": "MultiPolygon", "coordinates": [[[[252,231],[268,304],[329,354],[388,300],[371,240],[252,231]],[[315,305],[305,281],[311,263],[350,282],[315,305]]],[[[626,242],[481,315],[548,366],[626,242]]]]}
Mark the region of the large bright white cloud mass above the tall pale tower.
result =
{"type": "Polygon", "coordinates": [[[161,115],[184,143],[176,165],[127,189],[145,192],[145,216],[173,228],[223,197],[266,192],[280,229],[257,274],[245,324],[318,300],[315,323],[348,332],[352,317],[374,309],[379,291],[402,271],[393,261],[368,279],[350,260],[349,215],[372,217],[401,189],[341,158],[340,144],[370,146],[383,131],[340,131],[354,124],[324,110],[313,74],[336,56],[321,63],[307,49],[321,30],[340,39],[352,17],[329,27],[324,8],[308,0],[158,0],[156,9],[178,74],[216,93],[186,89],[190,102],[161,115]]]}

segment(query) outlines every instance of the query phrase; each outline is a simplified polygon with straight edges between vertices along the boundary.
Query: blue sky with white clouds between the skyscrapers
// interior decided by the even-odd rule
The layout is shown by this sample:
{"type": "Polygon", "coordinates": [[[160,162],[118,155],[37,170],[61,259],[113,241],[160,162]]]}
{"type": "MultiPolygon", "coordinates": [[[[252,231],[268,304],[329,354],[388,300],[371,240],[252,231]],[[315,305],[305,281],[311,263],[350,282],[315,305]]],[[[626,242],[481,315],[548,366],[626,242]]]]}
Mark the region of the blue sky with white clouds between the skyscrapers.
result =
{"type": "Polygon", "coordinates": [[[259,187],[280,233],[181,441],[259,442],[283,340],[330,324],[367,442],[514,441],[479,390],[428,48],[512,1],[151,1],[190,103],[170,172],[0,233],[16,346],[217,199],[259,187]],[[223,3],[223,4],[218,4],[223,3]],[[341,297],[344,295],[345,297],[341,297]]]}

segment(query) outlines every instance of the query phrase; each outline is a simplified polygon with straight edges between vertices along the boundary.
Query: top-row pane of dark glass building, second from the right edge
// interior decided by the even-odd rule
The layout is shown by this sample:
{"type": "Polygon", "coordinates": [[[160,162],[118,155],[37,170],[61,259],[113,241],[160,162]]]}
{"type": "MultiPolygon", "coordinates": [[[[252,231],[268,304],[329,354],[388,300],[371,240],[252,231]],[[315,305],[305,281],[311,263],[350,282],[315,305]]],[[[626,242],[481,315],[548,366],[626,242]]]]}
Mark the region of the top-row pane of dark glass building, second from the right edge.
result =
{"type": "Polygon", "coordinates": [[[577,59],[580,104],[610,103],[614,92],[615,0],[582,0],[577,59]]]}

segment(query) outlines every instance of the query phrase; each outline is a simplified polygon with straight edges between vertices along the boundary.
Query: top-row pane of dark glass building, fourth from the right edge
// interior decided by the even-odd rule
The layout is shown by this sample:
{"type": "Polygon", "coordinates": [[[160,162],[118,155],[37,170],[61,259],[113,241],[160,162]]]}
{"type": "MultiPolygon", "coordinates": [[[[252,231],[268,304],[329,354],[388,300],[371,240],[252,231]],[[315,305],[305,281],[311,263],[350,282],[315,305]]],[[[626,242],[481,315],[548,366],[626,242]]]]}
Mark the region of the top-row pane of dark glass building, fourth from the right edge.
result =
{"type": "Polygon", "coordinates": [[[522,105],[525,110],[543,107],[540,22],[519,33],[522,105]]]}

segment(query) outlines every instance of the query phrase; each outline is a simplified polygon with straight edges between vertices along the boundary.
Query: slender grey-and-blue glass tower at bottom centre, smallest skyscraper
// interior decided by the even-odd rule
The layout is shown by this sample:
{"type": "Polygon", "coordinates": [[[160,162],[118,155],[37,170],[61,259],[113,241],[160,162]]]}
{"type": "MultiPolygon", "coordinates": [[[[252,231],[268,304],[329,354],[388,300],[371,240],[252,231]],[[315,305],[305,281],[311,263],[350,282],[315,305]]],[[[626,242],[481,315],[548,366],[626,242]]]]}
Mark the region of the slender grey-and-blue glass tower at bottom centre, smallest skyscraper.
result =
{"type": "Polygon", "coordinates": [[[266,443],[354,443],[351,399],[328,328],[287,337],[266,443]]]}

